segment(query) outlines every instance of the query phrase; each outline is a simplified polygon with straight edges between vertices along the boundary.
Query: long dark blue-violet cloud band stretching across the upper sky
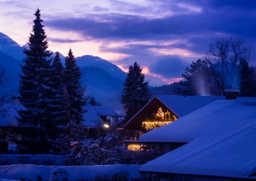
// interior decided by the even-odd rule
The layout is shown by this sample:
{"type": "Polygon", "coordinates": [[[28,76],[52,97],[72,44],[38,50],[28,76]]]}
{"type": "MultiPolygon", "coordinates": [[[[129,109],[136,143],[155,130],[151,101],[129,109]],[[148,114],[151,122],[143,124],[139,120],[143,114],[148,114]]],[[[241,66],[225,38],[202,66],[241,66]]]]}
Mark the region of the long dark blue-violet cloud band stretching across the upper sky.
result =
{"type": "MultiPolygon", "coordinates": [[[[246,3],[243,3],[244,6],[242,6],[245,9],[237,9],[237,6],[232,3],[214,3],[216,1],[210,1],[209,3],[201,1],[201,6],[189,4],[185,1],[179,3],[160,1],[161,3],[156,7],[138,6],[121,1],[110,2],[112,2],[115,9],[123,10],[127,14],[112,12],[86,14],[83,18],[58,19],[55,17],[55,19],[49,19],[47,24],[62,31],[77,31],[85,37],[93,39],[137,40],[165,39],[171,36],[200,35],[200,33],[214,35],[221,32],[233,36],[251,36],[253,31],[250,32],[250,30],[254,30],[253,28],[256,25],[255,20],[253,21],[255,16],[252,16],[255,11],[245,11],[249,7],[246,6],[246,3]],[[225,11],[220,10],[220,7],[225,8],[225,11]],[[236,13],[232,12],[234,8],[236,8],[236,13]],[[150,10],[159,12],[159,17],[155,13],[154,18],[150,10]],[[163,11],[169,13],[163,14],[163,11]],[[250,35],[247,35],[248,31],[250,35]]],[[[94,8],[104,10],[100,6],[94,8]]]]}

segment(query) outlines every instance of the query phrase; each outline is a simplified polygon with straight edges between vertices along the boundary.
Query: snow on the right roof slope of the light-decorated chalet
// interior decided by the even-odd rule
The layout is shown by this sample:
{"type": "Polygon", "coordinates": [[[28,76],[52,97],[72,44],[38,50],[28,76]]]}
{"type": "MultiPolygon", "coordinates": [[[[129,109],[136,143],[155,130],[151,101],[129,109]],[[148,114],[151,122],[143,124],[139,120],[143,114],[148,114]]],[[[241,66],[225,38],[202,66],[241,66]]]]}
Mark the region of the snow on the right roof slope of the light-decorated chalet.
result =
{"type": "Polygon", "coordinates": [[[156,95],[177,116],[181,117],[201,107],[225,99],[224,96],[180,96],[180,95],[156,95]]]}

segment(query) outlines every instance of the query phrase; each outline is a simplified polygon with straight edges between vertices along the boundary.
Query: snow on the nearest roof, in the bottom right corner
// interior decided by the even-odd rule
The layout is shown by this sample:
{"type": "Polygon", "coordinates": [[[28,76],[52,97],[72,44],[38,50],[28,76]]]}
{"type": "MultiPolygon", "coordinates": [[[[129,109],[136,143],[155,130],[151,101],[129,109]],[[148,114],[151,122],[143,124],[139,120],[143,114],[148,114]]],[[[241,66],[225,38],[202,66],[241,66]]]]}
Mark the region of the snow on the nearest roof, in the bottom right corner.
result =
{"type": "Polygon", "coordinates": [[[199,137],[146,163],[139,171],[256,179],[255,130],[254,118],[254,123],[218,140],[199,137]]]}

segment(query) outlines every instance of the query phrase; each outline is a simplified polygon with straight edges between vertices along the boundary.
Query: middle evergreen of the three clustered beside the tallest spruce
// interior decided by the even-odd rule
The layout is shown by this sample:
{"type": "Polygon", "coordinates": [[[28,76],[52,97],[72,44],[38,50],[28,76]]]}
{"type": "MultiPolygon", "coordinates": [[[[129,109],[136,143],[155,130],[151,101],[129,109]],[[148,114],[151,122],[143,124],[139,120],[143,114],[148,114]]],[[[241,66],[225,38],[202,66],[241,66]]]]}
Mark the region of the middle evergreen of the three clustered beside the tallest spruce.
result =
{"type": "Polygon", "coordinates": [[[63,83],[63,66],[60,62],[60,54],[56,52],[56,56],[52,62],[52,90],[54,92],[51,105],[51,121],[53,124],[53,132],[51,137],[52,151],[55,154],[65,154],[69,150],[70,133],[69,120],[70,116],[66,114],[66,107],[69,104],[67,91],[63,83]]]}

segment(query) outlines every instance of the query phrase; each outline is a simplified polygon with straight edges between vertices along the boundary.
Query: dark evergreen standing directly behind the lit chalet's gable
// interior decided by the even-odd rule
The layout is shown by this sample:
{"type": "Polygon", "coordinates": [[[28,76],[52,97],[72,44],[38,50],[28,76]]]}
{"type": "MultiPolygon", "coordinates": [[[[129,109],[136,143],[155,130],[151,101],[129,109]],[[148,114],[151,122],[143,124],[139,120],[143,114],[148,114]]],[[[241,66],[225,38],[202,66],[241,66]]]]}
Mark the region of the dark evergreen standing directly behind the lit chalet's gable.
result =
{"type": "Polygon", "coordinates": [[[151,98],[148,81],[144,81],[144,78],[142,68],[137,62],[133,66],[129,66],[129,72],[123,84],[121,95],[121,103],[126,112],[126,121],[141,110],[151,98]]]}

